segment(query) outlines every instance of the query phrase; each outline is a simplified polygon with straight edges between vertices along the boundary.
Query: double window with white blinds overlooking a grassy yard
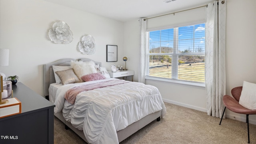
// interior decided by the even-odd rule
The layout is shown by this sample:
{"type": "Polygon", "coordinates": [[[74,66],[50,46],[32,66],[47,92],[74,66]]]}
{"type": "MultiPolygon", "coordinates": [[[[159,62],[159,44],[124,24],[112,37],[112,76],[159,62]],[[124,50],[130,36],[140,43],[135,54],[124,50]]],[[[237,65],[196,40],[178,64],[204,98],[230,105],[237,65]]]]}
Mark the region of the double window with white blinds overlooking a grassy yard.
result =
{"type": "Polygon", "coordinates": [[[204,83],[205,24],[147,32],[146,77],[204,83]]]}

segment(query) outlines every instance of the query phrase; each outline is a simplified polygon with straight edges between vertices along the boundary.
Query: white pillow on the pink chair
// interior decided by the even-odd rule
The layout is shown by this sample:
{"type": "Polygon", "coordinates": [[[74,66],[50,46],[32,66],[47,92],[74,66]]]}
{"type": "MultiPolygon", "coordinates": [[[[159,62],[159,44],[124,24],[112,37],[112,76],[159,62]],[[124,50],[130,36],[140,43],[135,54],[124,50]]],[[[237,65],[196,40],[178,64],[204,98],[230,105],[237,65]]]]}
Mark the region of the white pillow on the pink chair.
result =
{"type": "Polygon", "coordinates": [[[244,81],[239,104],[249,110],[256,109],[256,84],[244,81]]]}

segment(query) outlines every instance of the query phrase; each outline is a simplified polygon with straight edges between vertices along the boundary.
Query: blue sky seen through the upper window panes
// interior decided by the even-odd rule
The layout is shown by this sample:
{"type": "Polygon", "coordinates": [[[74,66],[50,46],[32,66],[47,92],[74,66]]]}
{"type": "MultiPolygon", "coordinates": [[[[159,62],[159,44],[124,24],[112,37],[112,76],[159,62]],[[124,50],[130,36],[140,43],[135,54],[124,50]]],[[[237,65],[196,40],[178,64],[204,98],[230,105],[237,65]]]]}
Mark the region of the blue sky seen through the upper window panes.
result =
{"type": "MultiPolygon", "coordinates": [[[[183,26],[178,28],[179,52],[189,50],[190,52],[204,52],[205,48],[205,24],[183,26]]],[[[158,47],[173,48],[174,29],[157,30],[150,32],[150,49],[158,47]]]]}

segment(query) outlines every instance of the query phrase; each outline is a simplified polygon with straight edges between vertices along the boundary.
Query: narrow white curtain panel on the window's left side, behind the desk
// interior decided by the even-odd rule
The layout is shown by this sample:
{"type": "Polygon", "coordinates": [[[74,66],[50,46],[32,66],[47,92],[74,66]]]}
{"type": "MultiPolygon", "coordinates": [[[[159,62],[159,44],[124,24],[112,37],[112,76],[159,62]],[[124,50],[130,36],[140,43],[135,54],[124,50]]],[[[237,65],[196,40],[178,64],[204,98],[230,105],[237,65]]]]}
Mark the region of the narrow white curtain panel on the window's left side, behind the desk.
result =
{"type": "Polygon", "coordinates": [[[146,75],[146,29],[147,20],[140,19],[140,63],[139,63],[139,76],[138,82],[145,83],[146,75]]]}

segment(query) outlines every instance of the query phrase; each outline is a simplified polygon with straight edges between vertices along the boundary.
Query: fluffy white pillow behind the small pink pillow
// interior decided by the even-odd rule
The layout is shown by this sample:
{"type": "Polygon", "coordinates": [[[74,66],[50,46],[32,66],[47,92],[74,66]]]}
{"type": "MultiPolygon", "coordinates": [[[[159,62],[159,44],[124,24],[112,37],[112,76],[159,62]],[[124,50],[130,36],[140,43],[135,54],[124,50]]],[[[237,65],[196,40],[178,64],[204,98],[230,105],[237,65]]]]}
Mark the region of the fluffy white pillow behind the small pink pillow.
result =
{"type": "Polygon", "coordinates": [[[80,82],[84,82],[82,76],[97,72],[95,63],[93,61],[83,62],[72,60],[70,65],[72,66],[76,76],[80,79],[80,82]]]}

